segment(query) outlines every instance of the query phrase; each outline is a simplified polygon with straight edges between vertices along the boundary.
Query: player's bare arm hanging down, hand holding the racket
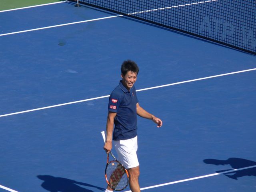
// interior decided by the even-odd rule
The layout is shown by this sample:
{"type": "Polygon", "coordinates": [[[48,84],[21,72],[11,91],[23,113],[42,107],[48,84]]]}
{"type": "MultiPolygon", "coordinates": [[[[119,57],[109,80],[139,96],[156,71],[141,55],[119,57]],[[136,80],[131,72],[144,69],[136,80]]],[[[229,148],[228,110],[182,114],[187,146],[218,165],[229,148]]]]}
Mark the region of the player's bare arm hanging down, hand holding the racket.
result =
{"type": "Polygon", "coordinates": [[[112,149],[112,134],[114,129],[115,117],[116,117],[115,112],[108,112],[107,125],[106,125],[107,138],[104,144],[104,150],[106,151],[106,153],[109,153],[112,149]]]}

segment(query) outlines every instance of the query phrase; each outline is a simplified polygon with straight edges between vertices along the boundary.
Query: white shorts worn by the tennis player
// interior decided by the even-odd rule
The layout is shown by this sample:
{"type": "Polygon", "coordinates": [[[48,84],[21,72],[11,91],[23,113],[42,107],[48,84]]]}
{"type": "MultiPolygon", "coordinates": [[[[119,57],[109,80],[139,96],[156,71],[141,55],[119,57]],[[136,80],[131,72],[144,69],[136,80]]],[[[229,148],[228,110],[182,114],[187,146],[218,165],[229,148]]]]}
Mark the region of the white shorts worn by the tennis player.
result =
{"type": "Polygon", "coordinates": [[[139,166],[137,157],[137,136],[127,140],[113,141],[118,161],[120,161],[126,169],[139,166]]]}

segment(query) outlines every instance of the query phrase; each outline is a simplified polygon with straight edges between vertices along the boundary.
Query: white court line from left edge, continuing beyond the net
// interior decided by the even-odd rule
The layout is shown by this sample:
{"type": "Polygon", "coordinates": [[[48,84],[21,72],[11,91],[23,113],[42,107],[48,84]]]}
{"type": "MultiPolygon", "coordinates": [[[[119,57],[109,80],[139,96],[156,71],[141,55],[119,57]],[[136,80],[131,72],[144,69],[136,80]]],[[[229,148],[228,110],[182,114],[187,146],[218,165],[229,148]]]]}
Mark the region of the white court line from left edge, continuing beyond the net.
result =
{"type": "MultiPolygon", "coordinates": [[[[128,13],[127,15],[139,14],[139,13],[144,13],[144,12],[152,12],[152,11],[156,11],[156,10],[164,10],[164,9],[176,8],[176,7],[180,7],[180,6],[190,6],[190,5],[195,5],[195,4],[209,3],[209,2],[214,2],[214,1],[218,1],[218,0],[207,0],[207,1],[189,3],[189,4],[182,4],[182,5],[172,6],[172,7],[158,8],[158,9],[153,9],[153,10],[145,10],[145,11],[140,11],[140,12],[128,13]]],[[[43,4],[43,5],[44,5],[44,4],[43,4]]],[[[41,5],[41,6],[42,6],[42,5],[41,5]]],[[[31,6],[31,7],[33,7],[33,6],[31,6]]],[[[66,24],[60,24],[60,25],[54,25],[54,26],[47,26],[47,27],[41,27],[41,28],[35,28],[35,29],[29,29],[29,30],[23,30],[23,31],[5,33],[5,34],[0,34],[0,36],[6,36],[6,35],[17,34],[17,33],[24,33],[24,32],[30,32],[30,31],[36,31],[36,30],[42,30],[42,29],[48,29],[48,28],[54,28],[54,27],[60,27],[60,26],[78,24],[78,23],[84,23],[84,22],[90,22],[90,21],[108,19],[108,18],[115,18],[115,17],[120,17],[120,16],[124,16],[124,15],[116,15],[116,16],[110,16],[110,17],[104,17],[104,18],[98,18],[98,19],[84,20],[84,21],[78,21],[78,22],[72,22],[72,23],[66,23],[66,24]]]]}

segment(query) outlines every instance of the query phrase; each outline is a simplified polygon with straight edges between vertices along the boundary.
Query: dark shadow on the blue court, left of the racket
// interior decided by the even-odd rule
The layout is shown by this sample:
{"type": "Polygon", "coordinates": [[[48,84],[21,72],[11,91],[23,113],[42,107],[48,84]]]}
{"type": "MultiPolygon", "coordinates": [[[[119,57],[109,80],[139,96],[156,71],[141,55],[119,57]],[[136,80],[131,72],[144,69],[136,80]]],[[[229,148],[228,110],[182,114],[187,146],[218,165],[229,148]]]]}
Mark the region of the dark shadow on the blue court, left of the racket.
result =
{"type": "Polygon", "coordinates": [[[88,190],[79,185],[97,188],[102,191],[105,190],[104,188],[101,187],[97,187],[87,183],[77,182],[67,178],[54,177],[50,175],[38,175],[37,177],[40,180],[44,181],[41,185],[42,188],[50,192],[93,192],[92,190],[88,190]]]}

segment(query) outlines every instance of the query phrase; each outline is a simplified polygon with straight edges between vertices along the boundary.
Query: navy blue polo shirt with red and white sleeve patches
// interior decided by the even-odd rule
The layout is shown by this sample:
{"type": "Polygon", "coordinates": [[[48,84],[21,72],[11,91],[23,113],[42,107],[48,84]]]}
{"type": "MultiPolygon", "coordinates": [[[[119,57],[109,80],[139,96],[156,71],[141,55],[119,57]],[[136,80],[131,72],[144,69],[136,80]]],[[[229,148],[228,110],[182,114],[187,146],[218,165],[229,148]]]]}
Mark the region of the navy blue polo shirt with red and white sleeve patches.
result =
{"type": "Polygon", "coordinates": [[[134,86],[128,91],[119,82],[112,91],[108,102],[108,111],[115,112],[113,140],[126,140],[137,136],[137,109],[138,99],[134,86]]]}

